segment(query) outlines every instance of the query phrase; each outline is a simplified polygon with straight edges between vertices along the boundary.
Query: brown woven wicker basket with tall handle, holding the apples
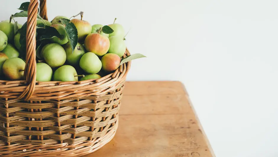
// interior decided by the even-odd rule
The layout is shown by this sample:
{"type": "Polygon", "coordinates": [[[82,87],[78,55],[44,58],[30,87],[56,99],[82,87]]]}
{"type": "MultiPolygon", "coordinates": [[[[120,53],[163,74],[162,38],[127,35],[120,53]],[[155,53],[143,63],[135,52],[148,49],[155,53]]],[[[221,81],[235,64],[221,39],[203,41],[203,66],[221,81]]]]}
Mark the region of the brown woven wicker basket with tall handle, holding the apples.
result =
{"type": "MultiPolygon", "coordinates": [[[[0,156],[68,157],[92,153],[115,135],[130,62],[100,79],[36,82],[38,0],[30,0],[25,78],[0,80],[0,156]]],[[[47,19],[46,0],[40,15],[47,19]]],[[[130,55],[126,50],[126,54],[130,55]]]]}

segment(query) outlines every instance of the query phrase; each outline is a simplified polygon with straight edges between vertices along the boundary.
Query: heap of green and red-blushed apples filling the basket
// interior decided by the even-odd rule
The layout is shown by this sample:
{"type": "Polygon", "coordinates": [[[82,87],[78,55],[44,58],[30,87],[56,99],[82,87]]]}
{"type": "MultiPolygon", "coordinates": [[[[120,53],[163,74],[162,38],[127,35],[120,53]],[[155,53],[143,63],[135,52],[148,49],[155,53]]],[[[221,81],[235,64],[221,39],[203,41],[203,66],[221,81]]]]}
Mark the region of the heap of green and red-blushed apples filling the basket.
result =
{"type": "MultiPolygon", "coordinates": [[[[113,33],[105,34],[103,25],[81,19],[71,19],[78,32],[78,43],[74,50],[70,47],[65,25],[56,16],[51,22],[40,19],[37,26],[44,22],[54,27],[62,38],[47,39],[48,43],[40,49],[37,58],[37,81],[78,81],[101,78],[104,74],[116,70],[125,54],[125,30],[122,25],[114,23],[108,26],[113,33]],[[73,51],[73,52],[72,52],[73,51]],[[77,74],[78,73],[78,74],[77,74]],[[102,76],[101,76],[102,75],[102,76]],[[79,79],[78,79],[79,78],[79,79]]],[[[22,25],[17,24],[18,29],[22,25]]],[[[24,57],[20,57],[20,33],[14,31],[14,23],[0,22],[0,75],[4,80],[24,80],[24,57]]]]}

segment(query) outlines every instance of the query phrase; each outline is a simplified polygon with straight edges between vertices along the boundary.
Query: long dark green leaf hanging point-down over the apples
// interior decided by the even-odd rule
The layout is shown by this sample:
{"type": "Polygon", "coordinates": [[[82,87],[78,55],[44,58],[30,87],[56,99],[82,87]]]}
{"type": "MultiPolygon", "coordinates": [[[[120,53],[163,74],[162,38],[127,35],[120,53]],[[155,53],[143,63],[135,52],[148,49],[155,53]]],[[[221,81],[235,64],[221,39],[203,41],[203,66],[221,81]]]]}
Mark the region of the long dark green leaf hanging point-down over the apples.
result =
{"type": "Polygon", "coordinates": [[[75,25],[70,22],[69,19],[60,19],[62,24],[65,26],[67,39],[69,40],[70,47],[72,49],[72,53],[78,42],[78,34],[75,25]]]}

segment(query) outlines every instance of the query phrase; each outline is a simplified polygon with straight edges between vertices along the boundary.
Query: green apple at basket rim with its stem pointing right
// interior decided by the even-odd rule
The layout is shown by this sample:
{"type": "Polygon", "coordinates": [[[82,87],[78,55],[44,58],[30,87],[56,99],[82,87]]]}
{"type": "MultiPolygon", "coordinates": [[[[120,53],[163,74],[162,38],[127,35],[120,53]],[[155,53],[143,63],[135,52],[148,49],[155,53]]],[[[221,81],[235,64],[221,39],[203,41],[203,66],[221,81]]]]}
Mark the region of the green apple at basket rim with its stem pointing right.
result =
{"type": "Polygon", "coordinates": [[[77,72],[70,65],[63,65],[54,72],[54,81],[78,81],[77,72]]]}

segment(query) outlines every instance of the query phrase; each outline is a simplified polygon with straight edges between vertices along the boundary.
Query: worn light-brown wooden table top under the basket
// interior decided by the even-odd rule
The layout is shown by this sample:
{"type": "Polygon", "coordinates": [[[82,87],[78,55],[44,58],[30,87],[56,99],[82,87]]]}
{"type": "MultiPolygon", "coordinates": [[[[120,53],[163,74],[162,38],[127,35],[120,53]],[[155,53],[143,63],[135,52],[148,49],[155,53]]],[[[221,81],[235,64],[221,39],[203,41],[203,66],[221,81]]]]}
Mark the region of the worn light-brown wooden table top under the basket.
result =
{"type": "Polygon", "coordinates": [[[84,157],[212,157],[214,153],[180,82],[126,82],[119,128],[84,157]]]}

